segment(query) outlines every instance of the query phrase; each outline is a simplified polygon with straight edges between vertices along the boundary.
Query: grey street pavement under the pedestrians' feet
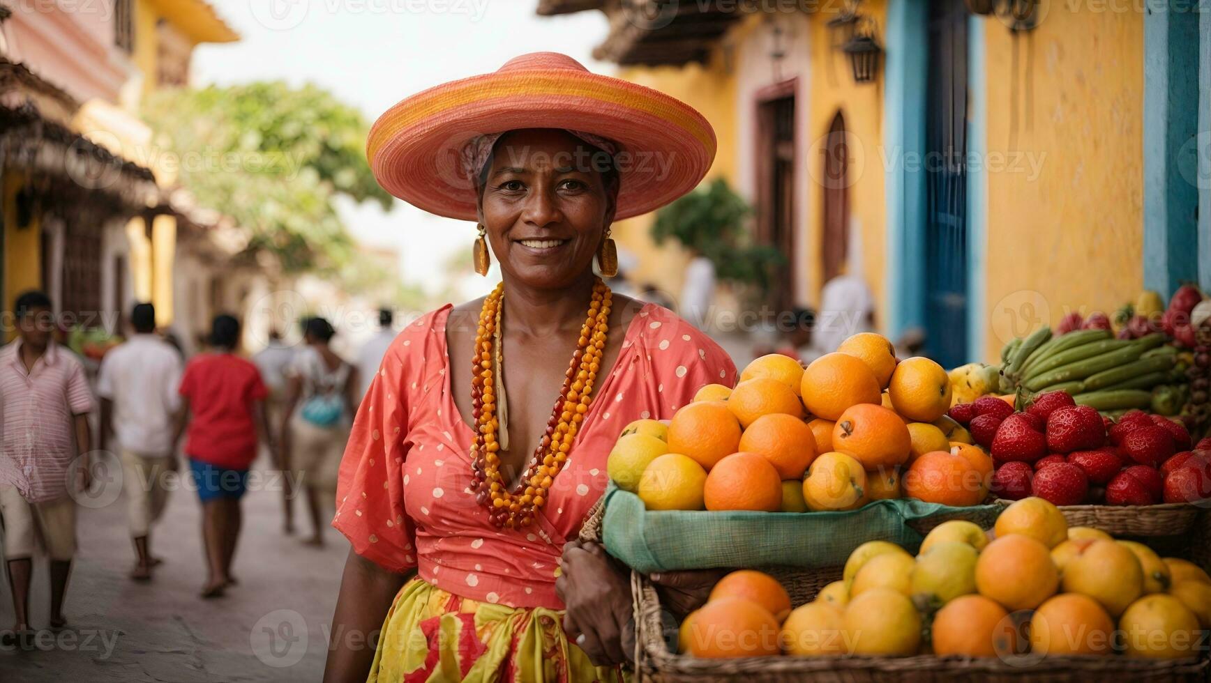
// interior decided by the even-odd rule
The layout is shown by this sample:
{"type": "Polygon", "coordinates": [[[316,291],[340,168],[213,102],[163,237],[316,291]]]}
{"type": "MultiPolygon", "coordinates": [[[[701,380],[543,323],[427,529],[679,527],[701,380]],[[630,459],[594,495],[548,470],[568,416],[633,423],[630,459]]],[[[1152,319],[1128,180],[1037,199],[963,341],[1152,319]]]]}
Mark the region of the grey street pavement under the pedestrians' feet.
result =
{"type": "MultiPolygon", "coordinates": [[[[259,461],[264,463],[264,458],[259,461]]],[[[120,470],[109,470],[120,471],[120,470]]],[[[171,494],[153,531],[153,551],[163,558],[150,584],[127,578],[134,560],[126,526],[126,499],[102,494],[81,505],[80,550],[68,586],[69,627],[46,630],[47,571],[35,561],[31,620],[41,629],[35,650],[0,647],[0,682],[306,682],[318,681],[326,656],[337,589],[349,545],[327,529],[322,549],[281,533],[276,473],[256,470],[245,497],[243,533],[226,596],[201,600],[206,578],[201,510],[193,490],[171,494]]],[[[115,491],[113,480],[101,490],[115,491]]],[[[305,531],[303,500],[295,526],[305,531]]],[[[7,577],[0,586],[0,629],[11,629],[7,577]]]]}

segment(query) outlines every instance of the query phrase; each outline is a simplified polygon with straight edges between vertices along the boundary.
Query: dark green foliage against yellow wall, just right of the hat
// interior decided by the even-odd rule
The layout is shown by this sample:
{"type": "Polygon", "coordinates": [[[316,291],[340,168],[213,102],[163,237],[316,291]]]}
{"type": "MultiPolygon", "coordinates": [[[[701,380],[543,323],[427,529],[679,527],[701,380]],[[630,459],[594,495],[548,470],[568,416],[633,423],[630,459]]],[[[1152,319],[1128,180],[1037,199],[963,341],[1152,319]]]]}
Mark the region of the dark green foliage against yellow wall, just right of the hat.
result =
{"type": "Polygon", "coordinates": [[[656,212],[652,237],[656,244],[676,239],[710,259],[719,279],[752,285],[765,295],[786,256],[753,242],[745,225],[751,214],[745,199],[716,179],[656,212]]]}

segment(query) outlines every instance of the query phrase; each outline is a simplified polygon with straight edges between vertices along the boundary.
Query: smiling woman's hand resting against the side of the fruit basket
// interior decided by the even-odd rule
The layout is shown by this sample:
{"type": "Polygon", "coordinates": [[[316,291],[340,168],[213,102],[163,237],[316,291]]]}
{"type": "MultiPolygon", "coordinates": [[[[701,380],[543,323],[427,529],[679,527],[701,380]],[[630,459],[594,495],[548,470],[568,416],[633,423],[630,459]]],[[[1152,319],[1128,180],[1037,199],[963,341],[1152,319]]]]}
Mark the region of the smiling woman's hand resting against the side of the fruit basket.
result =
{"type": "Polygon", "coordinates": [[[595,666],[631,660],[635,620],[626,569],[597,543],[570,540],[559,558],[556,595],[567,606],[563,630],[595,666]]]}

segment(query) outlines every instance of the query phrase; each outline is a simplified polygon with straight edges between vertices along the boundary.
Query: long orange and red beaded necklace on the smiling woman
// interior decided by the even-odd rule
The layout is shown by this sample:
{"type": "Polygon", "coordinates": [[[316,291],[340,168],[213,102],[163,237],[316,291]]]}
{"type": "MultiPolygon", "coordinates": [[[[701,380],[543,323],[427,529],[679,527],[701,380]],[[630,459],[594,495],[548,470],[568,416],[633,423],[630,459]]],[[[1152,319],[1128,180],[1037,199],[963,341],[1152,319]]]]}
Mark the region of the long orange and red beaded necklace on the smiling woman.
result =
{"type": "Polygon", "coordinates": [[[507,490],[500,475],[500,457],[497,455],[501,448],[507,448],[509,440],[507,424],[505,432],[500,432],[500,423],[507,422],[503,381],[504,345],[500,341],[504,297],[505,284],[500,283],[483,300],[475,334],[471,416],[476,434],[471,445],[471,467],[475,471],[471,488],[476,491],[476,502],[488,508],[488,519],[494,526],[518,528],[534,523],[534,515],[546,504],[551,484],[567,462],[576,432],[589,413],[593,382],[601,370],[602,349],[609,331],[612,294],[606,283],[596,278],[589,314],[580,328],[580,338],[564,374],[559,398],[546,423],[546,434],[513,491],[507,490]]]}

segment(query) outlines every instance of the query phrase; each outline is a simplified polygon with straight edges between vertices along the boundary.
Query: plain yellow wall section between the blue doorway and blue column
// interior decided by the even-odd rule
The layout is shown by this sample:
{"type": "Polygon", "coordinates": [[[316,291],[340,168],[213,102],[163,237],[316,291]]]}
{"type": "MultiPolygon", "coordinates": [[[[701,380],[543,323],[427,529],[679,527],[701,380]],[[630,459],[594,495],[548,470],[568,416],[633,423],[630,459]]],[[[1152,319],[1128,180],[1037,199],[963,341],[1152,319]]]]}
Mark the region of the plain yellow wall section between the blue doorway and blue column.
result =
{"type": "Polygon", "coordinates": [[[1017,37],[1016,73],[1014,36],[985,27],[989,166],[1026,167],[988,173],[985,360],[1011,317],[1113,314],[1143,285],[1143,15],[1073,10],[1017,37]]]}

